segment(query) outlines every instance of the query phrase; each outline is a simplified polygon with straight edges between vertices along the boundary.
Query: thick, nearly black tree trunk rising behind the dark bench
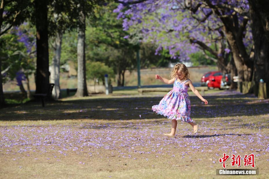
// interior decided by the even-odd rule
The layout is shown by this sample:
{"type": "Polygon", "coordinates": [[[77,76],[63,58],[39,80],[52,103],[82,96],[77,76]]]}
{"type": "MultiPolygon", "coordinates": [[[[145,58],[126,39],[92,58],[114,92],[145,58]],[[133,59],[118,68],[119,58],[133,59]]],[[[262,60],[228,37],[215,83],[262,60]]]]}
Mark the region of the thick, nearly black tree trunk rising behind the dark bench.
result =
{"type": "Polygon", "coordinates": [[[47,94],[49,84],[48,1],[35,0],[36,16],[36,94],[47,94]]]}

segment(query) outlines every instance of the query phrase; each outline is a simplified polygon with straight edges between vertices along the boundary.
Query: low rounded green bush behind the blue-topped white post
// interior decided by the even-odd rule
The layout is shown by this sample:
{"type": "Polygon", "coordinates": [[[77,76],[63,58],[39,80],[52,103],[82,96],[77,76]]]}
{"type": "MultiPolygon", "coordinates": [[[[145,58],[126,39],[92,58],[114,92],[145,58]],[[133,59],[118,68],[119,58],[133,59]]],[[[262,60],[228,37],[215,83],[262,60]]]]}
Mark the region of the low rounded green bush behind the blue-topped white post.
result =
{"type": "Polygon", "coordinates": [[[104,83],[104,75],[108,74],[108,78],[115,78],[113,69],[106,66],[100,61],[87,61],[86,63],[86,76],[87,79],[101,80],[104,83]]]}

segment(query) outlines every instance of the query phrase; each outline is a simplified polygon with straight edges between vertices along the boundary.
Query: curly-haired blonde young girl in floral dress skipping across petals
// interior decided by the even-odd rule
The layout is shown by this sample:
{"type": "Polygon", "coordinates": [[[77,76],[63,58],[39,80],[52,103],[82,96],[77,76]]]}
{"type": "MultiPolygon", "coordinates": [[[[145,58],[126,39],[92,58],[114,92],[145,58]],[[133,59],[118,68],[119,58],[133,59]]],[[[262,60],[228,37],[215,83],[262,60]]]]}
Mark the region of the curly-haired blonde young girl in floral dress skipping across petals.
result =
{"type": "Polygon", "coordinates": [[[174,88],[168,92],[163,99],[160,101],[159,105],[152,106],[152,110],[157,114],[166,116],[168,119],[172,119],[172,129],[171,133],[163,134],[168,137],[175,137],[177,120],[188,122],[193,127],[194,133],[198,131],[198,125],[190,117],[191,113],[191,102],[189,99],[189,94],[187,93],[188,87],[191,91],[200,98],[205,105],[207,105],[207,100],[205,100],[201,94],[195,89],[191,80],[189,80],[189,71],[184,64],[176,64],[171,71],[170,80],[162,78],[160,75],[156,74],[156,79],[159,79],[167,84],[174,83],[174,88]]]}

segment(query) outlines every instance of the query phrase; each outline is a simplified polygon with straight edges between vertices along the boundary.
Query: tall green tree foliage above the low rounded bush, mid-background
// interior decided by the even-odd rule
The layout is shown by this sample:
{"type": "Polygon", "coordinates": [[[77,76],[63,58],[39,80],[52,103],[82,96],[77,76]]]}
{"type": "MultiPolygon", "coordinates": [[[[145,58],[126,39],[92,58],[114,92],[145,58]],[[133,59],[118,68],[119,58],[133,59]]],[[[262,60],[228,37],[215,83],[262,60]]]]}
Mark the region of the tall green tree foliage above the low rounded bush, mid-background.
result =
{"type": "Polygon", "coordinates": [[[111,67],[114,73],[136,68],[135,49],[122,30],[122,19],[117,19],[113,10],[116,3],[99,6],[87,20],[86,60],[101,61],[111,67]]]}

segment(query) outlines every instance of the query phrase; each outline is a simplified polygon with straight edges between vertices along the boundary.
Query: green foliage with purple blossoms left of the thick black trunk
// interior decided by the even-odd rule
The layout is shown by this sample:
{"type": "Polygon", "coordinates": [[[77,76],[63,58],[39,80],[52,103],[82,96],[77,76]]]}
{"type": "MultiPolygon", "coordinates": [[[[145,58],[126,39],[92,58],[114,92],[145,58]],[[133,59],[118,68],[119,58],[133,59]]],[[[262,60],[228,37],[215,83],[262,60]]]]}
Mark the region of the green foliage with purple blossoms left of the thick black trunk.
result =
{"type": "Polygon", "coordinates": [[[14,27],[0,38],[1,70],[4,71],[3,82],[14,79],[16,72],[23,70],[30,75],[35,69],[35,46],[33,29],[28,23],[14,27]],[[18,34],[18,35],[17,35],[18,34]]]}

